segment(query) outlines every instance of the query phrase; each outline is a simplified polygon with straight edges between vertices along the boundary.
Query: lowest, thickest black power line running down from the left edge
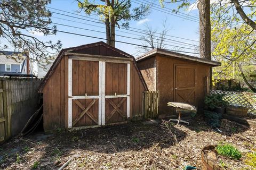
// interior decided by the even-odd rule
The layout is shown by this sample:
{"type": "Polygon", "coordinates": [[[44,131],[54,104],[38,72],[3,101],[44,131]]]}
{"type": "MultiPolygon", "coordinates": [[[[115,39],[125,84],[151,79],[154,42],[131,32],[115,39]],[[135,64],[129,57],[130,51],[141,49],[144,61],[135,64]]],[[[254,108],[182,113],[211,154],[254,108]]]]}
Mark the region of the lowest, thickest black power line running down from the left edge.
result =
{"type": "MultiPolygon", "coordinates": [[[[83,36],[83,37],[89,37],[89,38],[95,38],[95,39],[101,39],[101,40],[108,40],[108,39],[106,39],[106,38],[88,36],[88,35],[83,35],[83,34],[80,34],[80,33],[62,31],[62,30],[57,30],[57,29],[52,29],[52,28],[38,27],[38,26],[36,26],[36,25],[21,24],[21,23],[17,23],[17,22],[10,22],[10,21],[4,21],[4,20],[0,20],[0,21],[2,21],[2,22],[7,22],[7,23],[12,23],[12,24],[19,24],[19,25],[23,25],[23,26],[26,26],[26,27],[33,27],[33,28],[45,29],[45,30],[49,30],[49,31],[62,32],[62,33],[67,33],[67,34],[71,34],[71,35],[77,35],[77,36],[83,36]]],[[[123,44],[129,44],[129,45],[134,45],[134,46],[140,46],[140,47],[151,48],[151,47],[149,47],[149,46],[144,46],[144,45],[129,43],[129,42],[125,42],[125,41],[116,40],[115,42],[116,42],[116,43],[123,43],[123,44]]],[[[169,50],[170,50],[170,49],[169,49],[169,50]]],[[[182,51],[180,51],[180,50],[170,50],[170,51],[172,51],[172,52],[181,52],[181,53],[189,53],[189,54],[198,54],[198,53],[193,53],[193,52],[182,52],[182,51]]]]}

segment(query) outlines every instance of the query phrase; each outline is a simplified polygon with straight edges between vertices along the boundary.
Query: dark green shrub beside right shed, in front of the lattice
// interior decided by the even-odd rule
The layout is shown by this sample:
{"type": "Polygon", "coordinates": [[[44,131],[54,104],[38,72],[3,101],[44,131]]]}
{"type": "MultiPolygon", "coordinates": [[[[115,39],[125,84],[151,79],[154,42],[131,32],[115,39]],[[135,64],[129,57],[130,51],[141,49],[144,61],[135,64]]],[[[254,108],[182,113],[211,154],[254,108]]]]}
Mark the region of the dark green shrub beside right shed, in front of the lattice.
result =
{"type": "Polygon", "coordinates": [[[204,98],[204,104],[210,109],[214,109],[217,107],[226,107],[228,105],[227,101],[223,100],[224,95],[220,94],[212,94],[207,95],[204,98]]]}

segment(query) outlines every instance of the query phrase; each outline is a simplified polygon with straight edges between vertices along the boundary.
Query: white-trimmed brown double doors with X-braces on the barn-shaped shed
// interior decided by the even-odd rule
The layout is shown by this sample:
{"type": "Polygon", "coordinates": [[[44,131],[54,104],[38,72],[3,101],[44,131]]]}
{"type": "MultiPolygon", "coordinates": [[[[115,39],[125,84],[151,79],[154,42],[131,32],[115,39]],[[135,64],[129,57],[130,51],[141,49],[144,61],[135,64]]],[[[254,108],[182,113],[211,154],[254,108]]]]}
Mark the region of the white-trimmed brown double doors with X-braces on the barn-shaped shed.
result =
{"type": "Polygon", "coordinates": [[[129,63],[69,59],[69,128],[126,121],[129,96],[129,63]]]}

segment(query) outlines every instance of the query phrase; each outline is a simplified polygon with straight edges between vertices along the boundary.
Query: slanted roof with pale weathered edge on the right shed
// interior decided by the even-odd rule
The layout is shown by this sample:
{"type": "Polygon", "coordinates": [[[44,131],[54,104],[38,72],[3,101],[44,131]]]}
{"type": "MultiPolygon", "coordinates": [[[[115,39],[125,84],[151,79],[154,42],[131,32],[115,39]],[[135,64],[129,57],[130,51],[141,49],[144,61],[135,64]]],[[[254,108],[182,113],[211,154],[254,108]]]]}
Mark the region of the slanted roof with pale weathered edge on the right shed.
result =
{"type": "Polygon", "coordinates": [[[209,64],[212,66],[220,66],[221,65],[220,62],[215,62],[212,60],[207,60],[204,58],[194,57],[194,56],[190,56],[190,55],[186,55],[186,54],[171,52],[169,50],[160,49],[160,48],[153,49],[150,52],[139,56],[138,58],[136,58],[136,61],[140,62],[143,60],[147,60],[148,58],[151,58],[156,55],[162,55],[165,57],[175,57],[175,58],[180,58],[183,60],[189,60],[189,61],[194,61],[194,62],[198,62],[198,63],[209,64]]]}

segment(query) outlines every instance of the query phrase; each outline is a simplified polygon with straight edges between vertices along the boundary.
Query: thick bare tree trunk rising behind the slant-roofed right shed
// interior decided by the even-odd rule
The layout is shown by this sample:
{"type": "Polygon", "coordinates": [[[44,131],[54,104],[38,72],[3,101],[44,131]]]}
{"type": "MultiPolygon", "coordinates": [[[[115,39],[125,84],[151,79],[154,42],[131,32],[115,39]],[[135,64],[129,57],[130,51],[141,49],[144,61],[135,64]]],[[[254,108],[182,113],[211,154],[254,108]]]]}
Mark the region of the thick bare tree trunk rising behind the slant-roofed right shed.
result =
{"type": "Polygon", "coordinates": [[[199,10],[200,57],[211,60],[210,0],[200,0],[197,7],[199,10]]]}

